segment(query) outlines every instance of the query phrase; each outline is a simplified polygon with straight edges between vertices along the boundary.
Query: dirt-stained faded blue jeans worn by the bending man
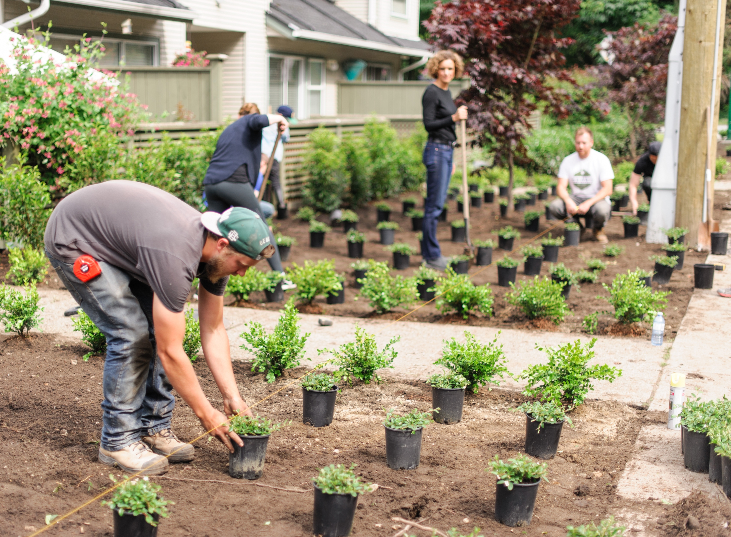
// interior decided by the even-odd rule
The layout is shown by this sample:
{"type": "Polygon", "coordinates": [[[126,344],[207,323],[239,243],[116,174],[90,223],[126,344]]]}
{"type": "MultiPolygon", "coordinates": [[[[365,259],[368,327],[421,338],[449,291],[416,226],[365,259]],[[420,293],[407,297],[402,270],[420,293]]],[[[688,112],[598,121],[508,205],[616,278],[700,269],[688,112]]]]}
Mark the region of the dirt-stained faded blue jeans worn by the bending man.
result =
{"type": "Polygon", "coordinates": [[[82,282],[73,266],[46,255],[61,282],[107,337],[102,447],[118,451],[170,428],[175,397],[157,355],[151,287],[99,261],[102,274],[82,282]]]}

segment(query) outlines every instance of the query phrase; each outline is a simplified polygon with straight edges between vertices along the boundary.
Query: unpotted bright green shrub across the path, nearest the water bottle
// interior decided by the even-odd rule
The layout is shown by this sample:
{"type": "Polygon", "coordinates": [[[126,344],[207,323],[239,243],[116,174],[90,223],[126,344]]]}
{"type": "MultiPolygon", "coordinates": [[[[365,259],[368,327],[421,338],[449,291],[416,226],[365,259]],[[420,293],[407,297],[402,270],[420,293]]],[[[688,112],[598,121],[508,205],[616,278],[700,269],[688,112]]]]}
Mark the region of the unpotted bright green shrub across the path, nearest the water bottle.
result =
{"type": "Polygon", "coordinates": [[[670,291],[653,291],[647,287],[645,282],[640,281],[636,272],[627,271],[626,274],[617,274],[612,281],[612,286],[602,283],[610,294],[609,298],[598,296],[614,306],[614,317],[626,325],[631,322],[639,322],[648,316],[664,309],[667,304],[667,295],[670,291]]]}

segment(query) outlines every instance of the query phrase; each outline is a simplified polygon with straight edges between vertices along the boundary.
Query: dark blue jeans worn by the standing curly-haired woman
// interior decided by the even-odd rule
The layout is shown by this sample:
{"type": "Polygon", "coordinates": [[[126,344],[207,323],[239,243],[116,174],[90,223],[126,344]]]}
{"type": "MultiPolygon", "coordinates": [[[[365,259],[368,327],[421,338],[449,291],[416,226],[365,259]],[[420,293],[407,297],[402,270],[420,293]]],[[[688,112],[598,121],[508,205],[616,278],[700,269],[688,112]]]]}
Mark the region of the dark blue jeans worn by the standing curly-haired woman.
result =
{"type": "Polygon", "coordinates": [[[442,256],[439,241],[436,240],[436,223],[442,214],[444,201],[452,177],[452,146],[426,142],[424,147],[424,166],[426,166],[426,200],[424,202],[424,221],[422,223],[422,257],[426,260],[442,256]]]}

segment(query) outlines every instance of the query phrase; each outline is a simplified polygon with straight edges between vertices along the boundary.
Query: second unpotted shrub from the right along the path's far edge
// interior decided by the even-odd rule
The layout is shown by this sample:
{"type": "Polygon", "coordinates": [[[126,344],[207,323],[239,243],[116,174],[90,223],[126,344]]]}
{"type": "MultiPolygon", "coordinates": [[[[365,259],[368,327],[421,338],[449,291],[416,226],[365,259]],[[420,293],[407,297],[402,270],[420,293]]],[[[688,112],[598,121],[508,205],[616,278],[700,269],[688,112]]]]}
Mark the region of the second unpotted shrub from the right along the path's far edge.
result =
{"type": "Polygon", "coordinates": [[[529,319],[548,319],[558,325],[569,313],[569,306],[561,295],[564,286],[553,282],[548,276],[540,279],[534,277],[529,282],[510,282],[510,292],[505,300],[518,306],[529,319]]]}

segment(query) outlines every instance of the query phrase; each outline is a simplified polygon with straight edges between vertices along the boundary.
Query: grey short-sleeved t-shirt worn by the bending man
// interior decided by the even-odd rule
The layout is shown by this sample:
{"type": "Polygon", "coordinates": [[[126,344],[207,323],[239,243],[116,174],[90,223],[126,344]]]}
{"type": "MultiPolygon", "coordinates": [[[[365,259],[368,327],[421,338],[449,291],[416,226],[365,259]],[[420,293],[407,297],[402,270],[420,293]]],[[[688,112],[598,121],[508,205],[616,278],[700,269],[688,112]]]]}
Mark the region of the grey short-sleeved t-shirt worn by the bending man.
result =
{"type": "MultiPolygon", "coordinates": [[[[171,312],[183,311],[194,277],[205,269],[200,212],[141,182],[103,182],[70,194],[50,215],[44,239],[50,255],[65,263],[87,254],[128,272],[171,312]]],[[[200,278],[219,296],[227,282],[200,278]]]]}

